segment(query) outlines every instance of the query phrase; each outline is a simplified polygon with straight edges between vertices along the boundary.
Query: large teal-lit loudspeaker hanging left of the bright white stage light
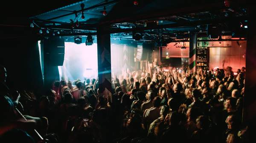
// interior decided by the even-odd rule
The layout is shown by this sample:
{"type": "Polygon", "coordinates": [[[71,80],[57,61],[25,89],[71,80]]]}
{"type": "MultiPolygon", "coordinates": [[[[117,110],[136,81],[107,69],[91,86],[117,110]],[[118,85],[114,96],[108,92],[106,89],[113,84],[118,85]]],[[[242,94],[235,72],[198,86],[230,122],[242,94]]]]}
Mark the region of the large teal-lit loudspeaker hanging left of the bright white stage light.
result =
{"type": "Polygon", "coordinates": [[[65,55],[64,39],[50,37],[44,40],[44,61],[48,65],[62,66],[65,55]]]}

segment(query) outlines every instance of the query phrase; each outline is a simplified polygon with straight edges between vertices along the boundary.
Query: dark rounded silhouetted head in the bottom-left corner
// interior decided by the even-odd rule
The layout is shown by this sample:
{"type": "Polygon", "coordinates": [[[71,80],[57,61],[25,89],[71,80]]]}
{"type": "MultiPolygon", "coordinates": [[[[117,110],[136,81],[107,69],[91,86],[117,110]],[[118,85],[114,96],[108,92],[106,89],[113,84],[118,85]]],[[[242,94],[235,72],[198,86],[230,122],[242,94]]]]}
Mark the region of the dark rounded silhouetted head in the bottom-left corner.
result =
{"type": "Polygon", "coordinates": [[[21,129],[11,129],[0,137],[0,143],[35,143],[35,140],[21,129]]]}

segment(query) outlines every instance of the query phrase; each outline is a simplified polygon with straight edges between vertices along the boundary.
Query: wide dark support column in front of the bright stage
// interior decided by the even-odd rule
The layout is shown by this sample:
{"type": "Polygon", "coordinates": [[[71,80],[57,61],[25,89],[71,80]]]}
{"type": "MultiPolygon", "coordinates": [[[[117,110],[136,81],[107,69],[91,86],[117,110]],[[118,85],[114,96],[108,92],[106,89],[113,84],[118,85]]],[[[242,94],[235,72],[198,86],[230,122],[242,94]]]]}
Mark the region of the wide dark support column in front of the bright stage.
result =
{"type": "Polygon", "coordinates": [[[111,48],[110,34],[97,29],[99,94],[111,92],[111,48]]]}

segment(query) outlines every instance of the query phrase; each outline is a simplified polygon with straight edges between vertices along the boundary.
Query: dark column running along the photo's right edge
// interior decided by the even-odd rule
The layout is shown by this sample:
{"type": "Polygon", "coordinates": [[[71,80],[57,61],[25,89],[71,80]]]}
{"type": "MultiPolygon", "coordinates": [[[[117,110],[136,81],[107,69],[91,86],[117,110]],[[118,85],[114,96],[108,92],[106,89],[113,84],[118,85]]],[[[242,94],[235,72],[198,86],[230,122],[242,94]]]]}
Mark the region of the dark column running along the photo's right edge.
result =
{"type": "Polygon", "coordinates": [[[243,122],[253,123],[256,126],[256,20],[254,12],[256,12],[253,6],[248,8],[249,17],[248,20],[248,36],[246,47],[246,76],[245,76],[245,93],[244,93],[244,112],[243,122]]]}

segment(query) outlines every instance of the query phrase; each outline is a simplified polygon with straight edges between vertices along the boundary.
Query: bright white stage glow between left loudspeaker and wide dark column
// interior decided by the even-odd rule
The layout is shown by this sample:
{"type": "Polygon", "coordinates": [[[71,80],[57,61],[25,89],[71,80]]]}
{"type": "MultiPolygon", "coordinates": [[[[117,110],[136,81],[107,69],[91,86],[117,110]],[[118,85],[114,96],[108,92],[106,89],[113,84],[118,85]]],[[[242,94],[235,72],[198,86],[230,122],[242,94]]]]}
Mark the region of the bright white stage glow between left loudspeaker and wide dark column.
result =
{"type": "Polygon", "coordinates": [[[60,79],[96,79],[98,76],[97,44],[65,42],[63,66],[59,66],[60,79]]]}

